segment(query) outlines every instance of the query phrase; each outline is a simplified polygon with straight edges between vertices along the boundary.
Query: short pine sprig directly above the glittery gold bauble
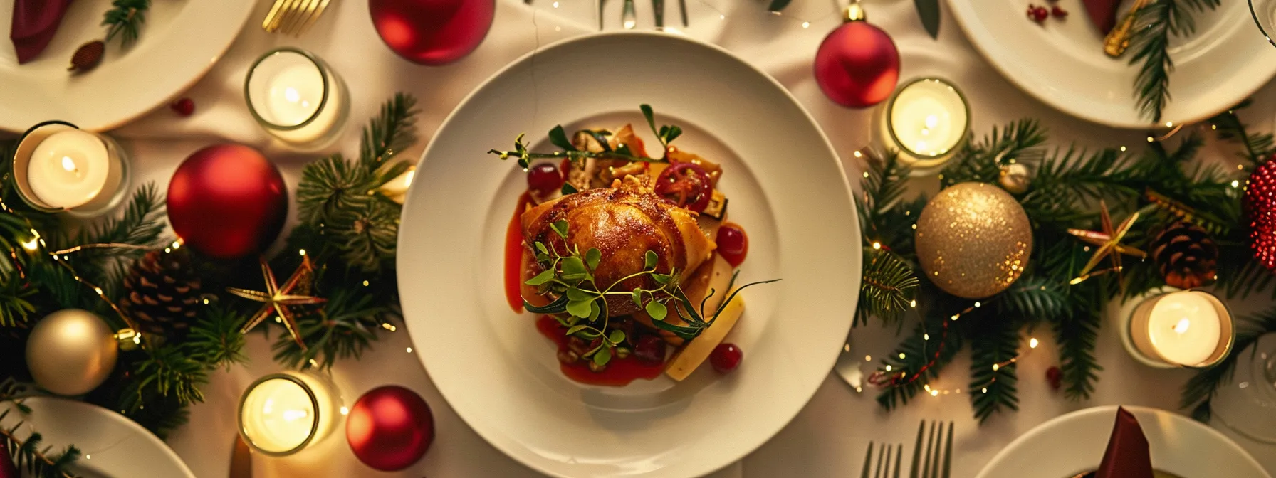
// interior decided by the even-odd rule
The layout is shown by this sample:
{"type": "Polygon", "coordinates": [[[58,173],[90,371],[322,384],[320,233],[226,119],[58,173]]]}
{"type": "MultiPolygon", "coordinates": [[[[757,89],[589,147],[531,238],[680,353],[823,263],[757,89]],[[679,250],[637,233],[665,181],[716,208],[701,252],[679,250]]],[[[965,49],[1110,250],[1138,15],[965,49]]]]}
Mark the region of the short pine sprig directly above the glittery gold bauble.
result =
{"type": "Polygon", "coordinates": [[[981,140],[966,141],[939,175],[943,187],[958,182],[997,182],[1002,166],[1040,161],[1046,130],[1036,120],[1011,121],[981,140]]]}

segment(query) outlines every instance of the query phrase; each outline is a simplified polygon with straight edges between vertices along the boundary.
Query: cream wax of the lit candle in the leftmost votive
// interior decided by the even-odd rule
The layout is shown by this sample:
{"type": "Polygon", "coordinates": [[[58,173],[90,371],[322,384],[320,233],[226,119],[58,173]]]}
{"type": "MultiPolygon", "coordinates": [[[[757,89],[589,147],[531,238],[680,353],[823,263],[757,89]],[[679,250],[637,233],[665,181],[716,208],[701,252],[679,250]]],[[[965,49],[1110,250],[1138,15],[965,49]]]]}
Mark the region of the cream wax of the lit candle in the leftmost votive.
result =
{"type": "Polygon", "coordinates": [[[36,145],[27,164],[27,182],[41,203],[51,208],[75,208],[101,195],[112,178],[119,184],[120,172],[112,175],[111,170],[111,153],[101,138],[64,130],[36,145]]]}

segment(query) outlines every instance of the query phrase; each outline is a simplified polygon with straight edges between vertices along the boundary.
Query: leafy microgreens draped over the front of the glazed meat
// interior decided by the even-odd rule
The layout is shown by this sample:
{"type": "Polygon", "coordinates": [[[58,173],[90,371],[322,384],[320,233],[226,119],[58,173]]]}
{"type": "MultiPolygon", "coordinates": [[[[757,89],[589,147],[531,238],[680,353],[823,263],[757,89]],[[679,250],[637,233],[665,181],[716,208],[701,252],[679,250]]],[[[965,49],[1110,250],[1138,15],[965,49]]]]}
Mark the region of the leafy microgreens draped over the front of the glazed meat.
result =
{"type": "MultiPolygon", "coordinates": [[[[565,242],[568,237],[567,221],[556,221],[550,224],[550,228],[565,242]]],[[[614,356],[612,349],[625,342],[624,331],[611,330],[606,333],[610,320],[606,301],[609,296],[628,296],[634,306],[647,311],[647,315],[651,316],[652,322],[657,328],[669,330],[684,340],[690,340],[698,337],[704,328],[709,326],[722,314],[722,310],[726,308],[726,305],[735,298],[735,294],[740,289],[780,280],[754,282],[732,289],[736,275],[739,275],[736,273],[727,284],[727,291],[731,291],[731,294],[712,314],[707,314],[704,303],[716,291],[709,291],[708,297],[701,302],[699,307],[694,307],[676,279],[676,270],[670,270],[669,274],[657,272],[660,255],[655,251],[647,251],[643,255],[643,270],[623,277],[611,284],[598,284],[595,277],[598,264],[602,263],[602,251],[598,249],[591,247],[582,254],[579,247],[564,246],[567,251],[560,252],[553,243],[541,241],[533,242],[532,249],[536,252],[536,263],[545,272],[536,274],[536,277],[527,279],[524,283],[537,287],[541,294],[553,296],[555,300],[541,307],[533,306],[524,300],[523,307],[532,314],[554,316],[559,324],[567,328],[567,335],[590,342],[601,339],[597,345],[584,353],[586,358],[592,358],[593,363],[598,366],[607,365],[614,356]],[[642,287],[628,291],[623,289],[623,283],[641,277],[651,277],[652,282],[660,284],[660,287],[655,289],[642,287]],[[667,319],[671,311],[685,325],[670,324],[667,319]]]]}

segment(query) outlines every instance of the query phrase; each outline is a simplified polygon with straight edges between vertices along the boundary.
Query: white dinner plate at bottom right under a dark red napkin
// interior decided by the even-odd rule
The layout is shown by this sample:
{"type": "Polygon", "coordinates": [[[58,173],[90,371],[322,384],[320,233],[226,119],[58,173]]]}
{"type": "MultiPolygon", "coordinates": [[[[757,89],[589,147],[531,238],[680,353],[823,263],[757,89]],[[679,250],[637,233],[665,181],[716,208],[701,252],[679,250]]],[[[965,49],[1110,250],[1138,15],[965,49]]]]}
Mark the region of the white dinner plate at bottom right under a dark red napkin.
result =
{"type": "MultiPolygon", "coordinates": [[[[1271,478],[1245,450],[1176,413],[1125,407],[1138,418],[1152,468],[1180,478],[1271,478]]],[[[1116,407],[1095,407],[1039,424],[993,458],[976,478],[1068,478],[1092,472],[1108,449],[1116,407]]]]}

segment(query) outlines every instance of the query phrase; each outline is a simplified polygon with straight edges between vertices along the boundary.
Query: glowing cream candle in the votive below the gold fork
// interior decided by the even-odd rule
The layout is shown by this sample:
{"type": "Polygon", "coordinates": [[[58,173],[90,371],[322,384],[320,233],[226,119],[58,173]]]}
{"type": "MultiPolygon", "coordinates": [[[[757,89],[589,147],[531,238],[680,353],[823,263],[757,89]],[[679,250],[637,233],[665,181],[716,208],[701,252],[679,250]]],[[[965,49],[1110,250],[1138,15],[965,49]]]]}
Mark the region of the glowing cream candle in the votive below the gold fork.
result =
{"type": "Polygon", "coordinates": [[[278,126],[296,126],[314,117],[299,129],[272,131],[276,136],[290,143],[310,143],[325,136],[333,129],[341,112],[343,93],[336,76],[328,74],[327,79],[327,101],[323,99],[324,73],[310,61],[288,65],[268,79],[265,105],[262,111],[267,121],[278,126]]]}

